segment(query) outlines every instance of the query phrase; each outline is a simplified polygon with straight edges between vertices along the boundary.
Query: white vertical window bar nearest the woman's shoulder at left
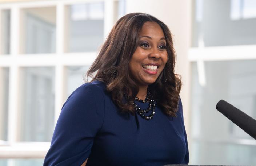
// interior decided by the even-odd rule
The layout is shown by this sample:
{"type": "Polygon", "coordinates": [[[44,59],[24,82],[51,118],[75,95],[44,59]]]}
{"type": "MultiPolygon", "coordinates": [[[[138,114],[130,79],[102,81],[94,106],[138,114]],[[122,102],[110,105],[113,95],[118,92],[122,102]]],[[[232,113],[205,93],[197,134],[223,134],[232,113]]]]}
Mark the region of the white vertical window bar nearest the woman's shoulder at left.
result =
{"type": "Polygon", "coordinates": [[[61,61],[64,50],[64,4],[59,2],[56,6],[56,56],[55,66],[55,124],[60,115],[63,104],[64,66],[61,61]]]}

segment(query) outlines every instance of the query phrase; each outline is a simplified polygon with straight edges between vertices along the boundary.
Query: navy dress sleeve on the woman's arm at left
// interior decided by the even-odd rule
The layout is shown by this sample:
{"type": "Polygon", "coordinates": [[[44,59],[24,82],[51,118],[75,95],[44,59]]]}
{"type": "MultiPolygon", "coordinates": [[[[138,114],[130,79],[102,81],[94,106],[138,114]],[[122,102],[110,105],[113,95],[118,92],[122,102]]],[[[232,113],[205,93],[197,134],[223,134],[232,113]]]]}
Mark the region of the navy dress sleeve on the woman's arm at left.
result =
{"type": "Polygon", "coordinates": [[[81,165],[104,119],[104,96],[94,84],[77,88],[61,109],[44,166],[81,165]]]}

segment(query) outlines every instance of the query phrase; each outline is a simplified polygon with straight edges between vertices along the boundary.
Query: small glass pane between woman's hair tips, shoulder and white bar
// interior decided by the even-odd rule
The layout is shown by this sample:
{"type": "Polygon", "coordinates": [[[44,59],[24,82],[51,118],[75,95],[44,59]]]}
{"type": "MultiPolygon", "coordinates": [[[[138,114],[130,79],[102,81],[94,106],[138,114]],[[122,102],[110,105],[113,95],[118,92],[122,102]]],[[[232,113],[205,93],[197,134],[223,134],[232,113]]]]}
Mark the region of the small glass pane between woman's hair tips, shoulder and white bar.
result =
{"type": "MultiPolygon", "coordinates": [[[[67,67],[67,90],[66,97],[71,95],[71,93],[85,83],[85,74],[88,71],[89,66],[69,66],[67,67]]],[[[88,78],[89,79],[89,78],[88,78]]],[[[88,80],[90,81],[90,80],[88,80]]]]}

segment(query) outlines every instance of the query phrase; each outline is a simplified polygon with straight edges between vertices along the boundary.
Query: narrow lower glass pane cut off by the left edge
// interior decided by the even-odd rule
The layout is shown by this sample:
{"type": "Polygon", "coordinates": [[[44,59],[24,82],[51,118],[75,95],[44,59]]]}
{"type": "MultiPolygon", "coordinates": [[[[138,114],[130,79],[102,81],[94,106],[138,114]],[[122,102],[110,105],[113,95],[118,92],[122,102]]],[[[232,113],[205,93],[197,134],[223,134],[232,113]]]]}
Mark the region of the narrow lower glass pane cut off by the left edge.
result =
{"type": "Polygon", "coordinates": [[[0,140],[7,141],[9,68],[0,68],[0,140]]]}

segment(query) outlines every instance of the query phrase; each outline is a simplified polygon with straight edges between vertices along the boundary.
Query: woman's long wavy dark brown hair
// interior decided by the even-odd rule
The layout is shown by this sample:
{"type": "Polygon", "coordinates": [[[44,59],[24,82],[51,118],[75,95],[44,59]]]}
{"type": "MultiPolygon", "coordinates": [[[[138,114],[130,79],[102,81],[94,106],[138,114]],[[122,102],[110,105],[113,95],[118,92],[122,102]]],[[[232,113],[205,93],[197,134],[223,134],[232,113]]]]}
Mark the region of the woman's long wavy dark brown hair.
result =
{"type": "MultiPolygon", "coordinates": [[[[130,13],[121,17],[113,26],[107,40],[100,49],[99,55],[87,72],[92,81],[99,80],[106,84],[106,90],[111,93],[113,102],[121,112],[133,113],[135,96],[139,87],[132,79],[128,64],[139,45],[139,33],[147,21],[160,25],[166,39],[168,61],[156,82],[149,85],[151,93],[163,112],[176,117],[181,89],[180,75],[174,73],[176,53],[173,48],[172,35],[169,28],[157,18],[145,13],[130,13]],[[97,71],[97,74],[92,74],[97,71]],[[129,102],[123,102],[124,92],[131,92],[129,102]]],[[[88,80],[88,79],[87,79],[88,80]]],[[[91,81],[91,82],[92,82],[91,81]]]]}

